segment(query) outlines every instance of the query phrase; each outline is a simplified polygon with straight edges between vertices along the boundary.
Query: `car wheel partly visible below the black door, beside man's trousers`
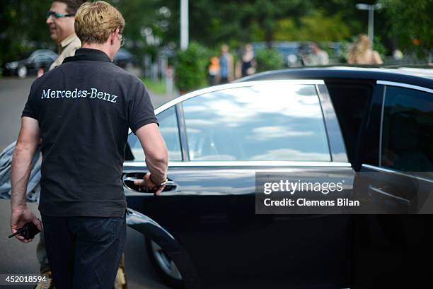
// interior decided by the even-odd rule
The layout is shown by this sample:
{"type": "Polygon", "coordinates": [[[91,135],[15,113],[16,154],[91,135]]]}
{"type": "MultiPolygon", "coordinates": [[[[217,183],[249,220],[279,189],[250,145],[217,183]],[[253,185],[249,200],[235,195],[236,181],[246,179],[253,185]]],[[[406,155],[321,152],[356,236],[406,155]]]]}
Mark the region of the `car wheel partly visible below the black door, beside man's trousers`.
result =
{"type": "Polygon", "coordinates": [[[164,283],[171,288],[185,288],[178,267],[156,242],[146,238],[146,251],[152,266],[164,283]]]}

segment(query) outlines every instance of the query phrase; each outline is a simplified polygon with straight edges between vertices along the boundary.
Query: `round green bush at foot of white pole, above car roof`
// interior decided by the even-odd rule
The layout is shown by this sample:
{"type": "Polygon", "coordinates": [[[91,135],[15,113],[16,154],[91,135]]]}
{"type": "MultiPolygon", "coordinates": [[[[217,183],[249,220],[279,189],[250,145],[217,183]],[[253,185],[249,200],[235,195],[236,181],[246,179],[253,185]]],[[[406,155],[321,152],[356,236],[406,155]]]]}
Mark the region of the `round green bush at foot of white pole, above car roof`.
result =
{"type": "Polygon", "coordinates": [[[206,85],[209,57],[207,49],[197,42],[190,43],[187,49],[178,53],[175,79],[180,91],[195,90],[206,85]]]}

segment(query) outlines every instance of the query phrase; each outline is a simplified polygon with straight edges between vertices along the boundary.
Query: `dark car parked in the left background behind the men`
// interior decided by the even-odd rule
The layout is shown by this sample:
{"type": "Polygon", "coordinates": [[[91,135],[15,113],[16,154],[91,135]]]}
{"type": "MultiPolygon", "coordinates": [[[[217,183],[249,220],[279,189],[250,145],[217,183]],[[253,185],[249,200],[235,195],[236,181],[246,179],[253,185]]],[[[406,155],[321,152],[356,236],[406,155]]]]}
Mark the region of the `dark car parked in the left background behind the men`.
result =
{"type": "Polygon", "coordinates": [[[4,64],[4,75],[19,76],[25,78],[28,74],[37,73],[38,69],[47,71],[51,64],[57,59],[57,54],[49,49],[37,49],[30,54],[29,57],[19,60],[7,62],[4,64]]]}

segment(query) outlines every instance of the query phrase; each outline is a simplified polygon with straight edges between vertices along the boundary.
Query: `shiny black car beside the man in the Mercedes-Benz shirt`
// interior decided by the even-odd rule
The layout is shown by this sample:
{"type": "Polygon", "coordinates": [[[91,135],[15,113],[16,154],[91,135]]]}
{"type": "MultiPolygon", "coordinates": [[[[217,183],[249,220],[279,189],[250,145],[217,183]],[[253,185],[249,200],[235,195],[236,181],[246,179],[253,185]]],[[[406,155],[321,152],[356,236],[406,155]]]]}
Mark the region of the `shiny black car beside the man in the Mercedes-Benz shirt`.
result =
{"type": "Polygon", "coordinates": [[[237,289],[425,284],[429,216],[255,211],[260,171],[340,179],[345,192],[390,212],[422,213],[433,191],[433,78],[415,74],[271,71],[158,107],[167,187],[154,196],[134,186],[146,172],[134,134],[123,182],[128,224],[146,237],[163,280],[237,289]]]}

